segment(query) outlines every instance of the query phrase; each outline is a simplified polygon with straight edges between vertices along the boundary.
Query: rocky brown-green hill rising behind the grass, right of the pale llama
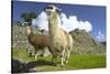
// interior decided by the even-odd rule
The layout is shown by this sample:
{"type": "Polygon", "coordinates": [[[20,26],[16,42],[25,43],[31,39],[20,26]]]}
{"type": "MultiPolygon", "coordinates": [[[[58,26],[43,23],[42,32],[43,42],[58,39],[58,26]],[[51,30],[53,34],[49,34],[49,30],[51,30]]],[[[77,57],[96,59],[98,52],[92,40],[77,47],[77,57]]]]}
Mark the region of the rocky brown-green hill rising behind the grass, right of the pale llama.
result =
{"type": "Polygon", "coordinates": [[[85,30],[75,29],[69,32],[73,36],[73,53],[80,54],[105,54],[106,45],[95,40],[88,32],[85,30]]]}

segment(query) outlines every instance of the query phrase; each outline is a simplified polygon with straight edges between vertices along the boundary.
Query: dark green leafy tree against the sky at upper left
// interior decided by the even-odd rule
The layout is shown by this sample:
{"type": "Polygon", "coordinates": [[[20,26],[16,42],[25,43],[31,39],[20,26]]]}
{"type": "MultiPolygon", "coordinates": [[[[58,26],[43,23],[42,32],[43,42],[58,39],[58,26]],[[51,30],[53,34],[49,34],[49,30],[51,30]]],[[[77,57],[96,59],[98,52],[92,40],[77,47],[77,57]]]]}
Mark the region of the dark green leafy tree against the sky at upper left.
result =
{"type": "Polygon", "coordinates": [[[24,19],[25,22],[31,23],[33,19],[36,18],[36,13],[35,12],[24,12],[21,14],[21,18],[24,19]]]}

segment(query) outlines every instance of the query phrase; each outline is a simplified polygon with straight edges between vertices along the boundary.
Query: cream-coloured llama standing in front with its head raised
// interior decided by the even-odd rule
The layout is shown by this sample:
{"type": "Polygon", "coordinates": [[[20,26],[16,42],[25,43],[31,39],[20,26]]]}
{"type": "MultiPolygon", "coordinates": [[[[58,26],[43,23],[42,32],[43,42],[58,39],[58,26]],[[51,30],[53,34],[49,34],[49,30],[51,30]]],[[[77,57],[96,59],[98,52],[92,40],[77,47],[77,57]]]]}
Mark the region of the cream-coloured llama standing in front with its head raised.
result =
{"type": "Polygon", "coordinates": [[[48,18],[50,43],[53,52],[53,61],[57,63],[57,56],[61,56],[62,66],[64,61],[68,63],[69,53],[73,47],[73,38],[69,33],[61,29],[59,9],[54,6],[45,8],[48,18]]]}

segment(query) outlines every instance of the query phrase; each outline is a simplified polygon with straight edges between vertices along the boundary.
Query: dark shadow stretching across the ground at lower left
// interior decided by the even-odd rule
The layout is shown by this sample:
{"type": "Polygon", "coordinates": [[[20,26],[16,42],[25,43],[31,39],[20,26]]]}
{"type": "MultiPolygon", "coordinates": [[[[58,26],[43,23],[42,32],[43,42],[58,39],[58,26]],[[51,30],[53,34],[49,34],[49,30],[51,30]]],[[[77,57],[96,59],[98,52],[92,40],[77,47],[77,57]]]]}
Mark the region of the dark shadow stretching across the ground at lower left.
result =
{"type": "Polygon", "coordinates": [[[12,73],[28,73],[28,72],[37,72],[37,71],[32,71],[31,68],[37,67],[37,66],[44,66],[44,65],[50,65],[54,66],[54,63],[44,61],[44,60],[38,60],[34,62],[29,62],[29,63],[23,63],[20,62],[19,60],[12,60],[11,63],[11,68],[12,73]]]}

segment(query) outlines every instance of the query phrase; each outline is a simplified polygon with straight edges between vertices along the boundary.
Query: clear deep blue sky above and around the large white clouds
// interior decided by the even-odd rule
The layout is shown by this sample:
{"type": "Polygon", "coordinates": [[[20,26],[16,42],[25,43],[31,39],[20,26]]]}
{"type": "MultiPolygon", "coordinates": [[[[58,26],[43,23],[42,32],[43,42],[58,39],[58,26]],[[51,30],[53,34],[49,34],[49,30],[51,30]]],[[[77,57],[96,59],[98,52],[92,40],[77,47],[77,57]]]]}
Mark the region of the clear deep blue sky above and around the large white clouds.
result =
{"type": "Polygon", "coordinates": [[[106,7],[101,6],[13,1],[13,20],[23,21],[20,18],[23,12],[35,11],[36,14],[40,14],[47,4],[54,4],[61,8],[68,20],[70,20],[69,17],[74,17],[84,24],[85,21],[89,22],[92,27],[89,33],[98,41],[106,41],[106,7]]]}

